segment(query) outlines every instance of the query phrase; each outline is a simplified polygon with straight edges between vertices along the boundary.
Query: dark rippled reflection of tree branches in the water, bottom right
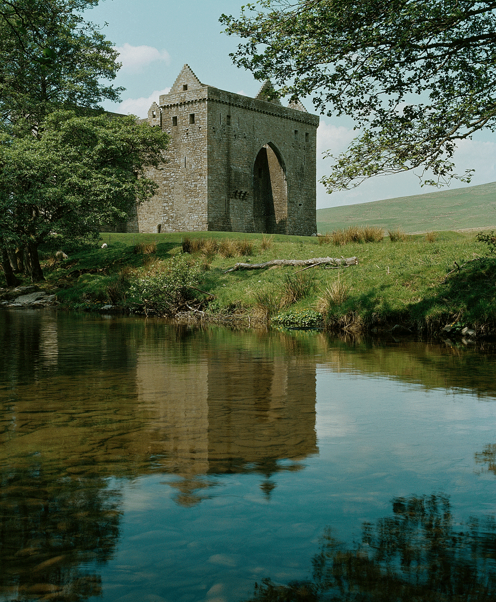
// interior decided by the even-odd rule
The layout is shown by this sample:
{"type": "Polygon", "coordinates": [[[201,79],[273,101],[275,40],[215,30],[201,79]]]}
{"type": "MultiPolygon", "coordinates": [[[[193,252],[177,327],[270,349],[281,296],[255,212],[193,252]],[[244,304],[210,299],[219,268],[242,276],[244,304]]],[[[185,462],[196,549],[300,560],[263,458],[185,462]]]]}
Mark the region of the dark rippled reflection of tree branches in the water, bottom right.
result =
{"type": "Polygon", "coordinates": [[[313,580],[255,585],[250,602],[488,602],[496,599],[494,517],[453,524],[444,495],[395,498],[347,548],[326,530],[313,580]]]}

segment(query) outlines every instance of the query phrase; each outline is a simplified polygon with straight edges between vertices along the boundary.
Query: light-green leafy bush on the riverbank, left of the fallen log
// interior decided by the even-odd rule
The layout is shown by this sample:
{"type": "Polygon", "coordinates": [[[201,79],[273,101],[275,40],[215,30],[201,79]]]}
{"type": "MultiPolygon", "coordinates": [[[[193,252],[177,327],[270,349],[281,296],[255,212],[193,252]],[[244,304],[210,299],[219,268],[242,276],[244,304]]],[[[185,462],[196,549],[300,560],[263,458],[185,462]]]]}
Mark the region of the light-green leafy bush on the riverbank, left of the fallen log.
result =
{"type": "Polygon", "coordinates": [[[193,291],[199,284],[196,265],[189,265],[182,255],[178,255],[138,278],[131,291],[146,315],[172,317],[188,300],[195,298],[193,291]]]}

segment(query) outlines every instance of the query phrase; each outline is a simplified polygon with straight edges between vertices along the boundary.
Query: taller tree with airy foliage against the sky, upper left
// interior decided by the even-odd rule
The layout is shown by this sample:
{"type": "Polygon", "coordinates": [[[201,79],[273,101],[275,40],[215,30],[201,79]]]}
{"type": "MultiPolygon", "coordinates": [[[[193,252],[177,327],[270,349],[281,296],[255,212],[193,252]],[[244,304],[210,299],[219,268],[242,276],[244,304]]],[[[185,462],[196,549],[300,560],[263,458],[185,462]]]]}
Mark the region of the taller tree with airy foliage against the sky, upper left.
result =
{"type": "Polygon", "coordinates": [[[38,134],[52,111],[119,100],[118,52],[81,12],[98,0],[0,0],[0,123],[38,134]]]}

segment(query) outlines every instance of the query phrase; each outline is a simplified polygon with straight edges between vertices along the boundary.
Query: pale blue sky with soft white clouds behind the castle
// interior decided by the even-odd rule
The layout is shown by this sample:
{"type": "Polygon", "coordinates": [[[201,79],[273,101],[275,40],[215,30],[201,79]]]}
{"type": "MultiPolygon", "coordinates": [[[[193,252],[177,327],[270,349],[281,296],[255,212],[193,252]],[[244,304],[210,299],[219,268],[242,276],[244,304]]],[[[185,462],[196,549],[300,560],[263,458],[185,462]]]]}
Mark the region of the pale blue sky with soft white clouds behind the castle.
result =
{"type": "MultiPolygon", "coordinates": [[[[159,102],[187,63],[202,84],[256,96],[262,82],[251,72],[234,66],[229,57],[239,39],[222,33],[222,13],[239,16],[244,0],[102,0],[85,13],[87,20],[102,26],[104,36],[120,52],[122,68],[114,81],[126,88],[121,104],[104,103],[116,113],[146,117],[152,102],[159,102]],[[107,23],[107,25],[105,25],[107,23]]],[[[315,113],[310,99],[301,99],[315,113]]],[[[287,104],[287,103],[286,103],[287,104]]],[[[317,179],[330,172],[330,160],[322,154],[345,151],[356,136],[350,117],[321,116],[317,132],[317,179]]],[[[463,140],[454,155],[459,173],[476,169],[471,184],[496,181],[496,135],[479,132],[463,140]]],[[[468,184],[453,182],[451,188],[468,184]]],[[[366,203],[436,190],[419,185],[412,172],[376,176],[358,188],[328,194],[317,184],[317,208],[366,203]]]]}

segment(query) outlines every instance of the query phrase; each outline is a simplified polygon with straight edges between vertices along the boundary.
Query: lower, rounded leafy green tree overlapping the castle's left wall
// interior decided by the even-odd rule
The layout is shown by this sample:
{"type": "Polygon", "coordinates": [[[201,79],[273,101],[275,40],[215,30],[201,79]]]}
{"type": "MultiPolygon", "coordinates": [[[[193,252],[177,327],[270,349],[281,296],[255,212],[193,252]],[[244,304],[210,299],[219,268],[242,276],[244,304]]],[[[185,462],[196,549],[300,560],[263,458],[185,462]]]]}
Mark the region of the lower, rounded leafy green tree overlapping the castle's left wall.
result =
{"type": "Polygon", "coordinates": [[[0,231],[4,248],[25,247],[31,279],[43,279],[37,249],[54,234],[99,238],[100,223],[127,219],[154,193],[168,135],[135,117],[55,111],[41,136],[0,136],[0,231]]]}

